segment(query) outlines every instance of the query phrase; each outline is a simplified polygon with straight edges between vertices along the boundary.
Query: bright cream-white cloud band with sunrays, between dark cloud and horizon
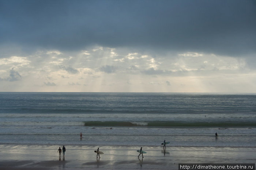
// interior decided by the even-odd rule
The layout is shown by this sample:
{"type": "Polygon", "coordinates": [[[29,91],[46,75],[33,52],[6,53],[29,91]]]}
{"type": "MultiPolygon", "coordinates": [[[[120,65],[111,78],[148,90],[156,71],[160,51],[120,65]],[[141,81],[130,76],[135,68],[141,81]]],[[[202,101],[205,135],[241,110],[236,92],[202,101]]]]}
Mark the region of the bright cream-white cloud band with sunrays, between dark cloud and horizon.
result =
{"type": "Polygon", "coordinates": [[[243,84],[246,89],[256,89],[252,76],[256,73],[246,69],[242,58],[181,54],[187,56],[97,47],[59,55],[40,51],[27,57],[11,56],[0,59],[0,90],[11,91],[13,82],[19,81],[16,91],[225,92],[224,86],[235,84],[234,91],[244,92],[241,75],[248,78],[248,86],[243,84]],[[220,79],[223,87],[218,85],[220,79]],[[27,82],[30,86],[22,85],[27,82]]]}

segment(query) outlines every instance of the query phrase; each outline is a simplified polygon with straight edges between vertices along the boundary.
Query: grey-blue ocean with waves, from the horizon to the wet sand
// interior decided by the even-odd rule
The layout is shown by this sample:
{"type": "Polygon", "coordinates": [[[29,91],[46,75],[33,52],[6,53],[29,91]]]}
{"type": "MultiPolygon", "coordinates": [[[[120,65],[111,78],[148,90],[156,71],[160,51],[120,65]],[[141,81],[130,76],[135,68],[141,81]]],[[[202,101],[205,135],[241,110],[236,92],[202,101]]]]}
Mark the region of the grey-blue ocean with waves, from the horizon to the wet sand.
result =
{"type": "Polygon", "coordinates": [[[0,93],[0,144],[140,147],[163,140],[256,147],[256,94],[0,93]]]}

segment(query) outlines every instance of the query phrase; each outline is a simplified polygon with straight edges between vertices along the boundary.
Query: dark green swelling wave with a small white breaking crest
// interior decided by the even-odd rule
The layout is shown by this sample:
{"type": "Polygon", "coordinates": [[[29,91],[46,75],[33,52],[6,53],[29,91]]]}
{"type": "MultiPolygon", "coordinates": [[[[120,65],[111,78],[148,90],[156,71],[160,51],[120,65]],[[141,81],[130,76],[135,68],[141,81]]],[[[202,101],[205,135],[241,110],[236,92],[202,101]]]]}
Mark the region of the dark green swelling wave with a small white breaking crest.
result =
{"type": "Polygon", "coordinates": [[[106,127],[256,127],[256,122],[85,121],[84,125],[106,127]]]}

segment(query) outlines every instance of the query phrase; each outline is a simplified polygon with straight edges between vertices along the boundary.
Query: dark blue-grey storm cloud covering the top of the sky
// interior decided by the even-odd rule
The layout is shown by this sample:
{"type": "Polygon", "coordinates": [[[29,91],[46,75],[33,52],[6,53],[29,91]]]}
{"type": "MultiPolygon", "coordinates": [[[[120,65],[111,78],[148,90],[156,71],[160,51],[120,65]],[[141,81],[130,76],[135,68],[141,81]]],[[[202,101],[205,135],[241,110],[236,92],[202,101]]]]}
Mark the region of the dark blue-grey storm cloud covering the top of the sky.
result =
{"type": "Polygon", "coordinates": [[[0,45],[246,55],[256,52],[255,18],[254,0],[0,0],[0,45]]]}

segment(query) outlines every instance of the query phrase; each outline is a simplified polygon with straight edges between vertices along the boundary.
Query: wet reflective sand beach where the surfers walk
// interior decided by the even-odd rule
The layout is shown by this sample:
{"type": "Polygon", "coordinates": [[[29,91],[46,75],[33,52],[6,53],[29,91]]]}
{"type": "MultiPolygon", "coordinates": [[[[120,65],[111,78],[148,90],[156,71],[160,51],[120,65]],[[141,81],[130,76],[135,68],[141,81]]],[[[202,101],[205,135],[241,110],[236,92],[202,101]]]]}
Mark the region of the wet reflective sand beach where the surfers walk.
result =
{"type": "Polygon", "coordinates": [[[178,169],[178,163],[255,163],[256,147],[65,146],[65,159],[53,145],[0,145],[0,170],[178,169]],[[94,150],[104,152],[97,160],[94,150]]]}

